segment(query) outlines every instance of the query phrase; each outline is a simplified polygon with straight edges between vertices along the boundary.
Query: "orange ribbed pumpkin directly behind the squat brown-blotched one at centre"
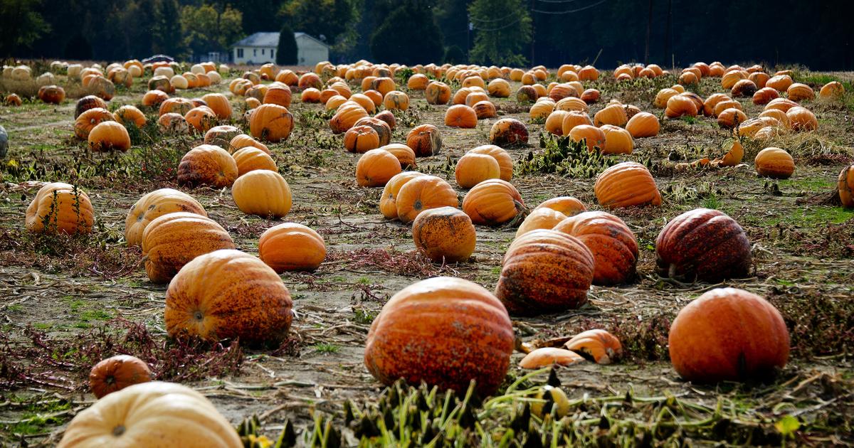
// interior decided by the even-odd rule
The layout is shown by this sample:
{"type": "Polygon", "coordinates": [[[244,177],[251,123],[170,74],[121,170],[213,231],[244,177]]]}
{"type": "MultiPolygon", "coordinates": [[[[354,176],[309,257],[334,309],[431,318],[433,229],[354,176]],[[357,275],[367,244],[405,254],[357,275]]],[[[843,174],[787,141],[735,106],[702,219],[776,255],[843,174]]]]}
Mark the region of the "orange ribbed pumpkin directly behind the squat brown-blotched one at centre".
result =
{"type": "Polygon", "coordinates": [[[450,183],[436,176],[418,176],[400,187],[395,197],[397,218],[410,223],[424,210],[438,207],[457,207],[459,199],[450,183]]]}

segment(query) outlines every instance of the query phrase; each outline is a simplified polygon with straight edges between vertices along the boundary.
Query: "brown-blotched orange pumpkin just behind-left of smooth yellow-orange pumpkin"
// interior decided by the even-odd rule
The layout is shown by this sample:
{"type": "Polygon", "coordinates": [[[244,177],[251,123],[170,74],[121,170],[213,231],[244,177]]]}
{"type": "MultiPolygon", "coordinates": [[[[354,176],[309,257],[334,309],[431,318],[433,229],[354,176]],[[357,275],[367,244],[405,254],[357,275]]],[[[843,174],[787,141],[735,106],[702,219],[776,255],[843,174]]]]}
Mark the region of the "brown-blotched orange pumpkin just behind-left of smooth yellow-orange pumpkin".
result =
{"type": "Polygon", "coordinates": [[[192,148],[178,164],[178,183],[181,185],[222,188],[230,187],[234,179],[237,179],[237,163],[228,151],[219,146],[192,148]]]}

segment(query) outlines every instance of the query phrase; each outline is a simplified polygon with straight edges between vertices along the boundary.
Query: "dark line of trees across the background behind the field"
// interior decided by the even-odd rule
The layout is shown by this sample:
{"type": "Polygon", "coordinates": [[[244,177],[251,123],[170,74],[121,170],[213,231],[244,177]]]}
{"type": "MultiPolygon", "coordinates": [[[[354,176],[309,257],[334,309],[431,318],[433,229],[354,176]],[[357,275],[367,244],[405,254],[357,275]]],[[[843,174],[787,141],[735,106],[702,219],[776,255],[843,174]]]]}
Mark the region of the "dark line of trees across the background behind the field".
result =
{"type": "Polygon", "coordinates": [[[0,0],[0,56],[207,55],[286,26],[334,61],[851,70],[852,15],[851,0],[0,0]]]}

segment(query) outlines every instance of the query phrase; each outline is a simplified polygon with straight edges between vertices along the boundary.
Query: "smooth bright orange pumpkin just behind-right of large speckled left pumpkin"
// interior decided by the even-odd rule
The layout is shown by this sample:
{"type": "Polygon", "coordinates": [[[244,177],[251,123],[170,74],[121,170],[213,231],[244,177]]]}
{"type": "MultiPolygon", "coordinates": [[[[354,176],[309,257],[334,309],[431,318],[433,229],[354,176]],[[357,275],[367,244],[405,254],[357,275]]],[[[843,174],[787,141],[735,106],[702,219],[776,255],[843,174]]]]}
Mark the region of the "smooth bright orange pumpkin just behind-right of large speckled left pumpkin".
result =
{"type": "Polygon", "coordinates": [[[278,224],[261,234],[258,257],[277,274],[314,271],[326,258],[326,244],[323,236],[305,225],[278,224]]]}

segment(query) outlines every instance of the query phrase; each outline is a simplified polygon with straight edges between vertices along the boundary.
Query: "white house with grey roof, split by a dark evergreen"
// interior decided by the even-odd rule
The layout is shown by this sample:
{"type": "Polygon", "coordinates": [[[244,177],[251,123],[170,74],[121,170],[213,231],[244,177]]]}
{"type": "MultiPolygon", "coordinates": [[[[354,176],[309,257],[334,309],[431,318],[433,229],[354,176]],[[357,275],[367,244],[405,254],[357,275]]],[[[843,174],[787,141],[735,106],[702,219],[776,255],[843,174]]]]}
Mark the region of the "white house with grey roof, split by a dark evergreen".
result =
{"type": "MultiPolygon", "coordinates": [[[[278,32],[256,32],[231,45],[235,64],[266,64],[276,62],[278,32]]],[[[329,61],[329,45],[305,32],[295,32],[296,61],[300,66],[313,66],[320,61],[329,61]]]]}

